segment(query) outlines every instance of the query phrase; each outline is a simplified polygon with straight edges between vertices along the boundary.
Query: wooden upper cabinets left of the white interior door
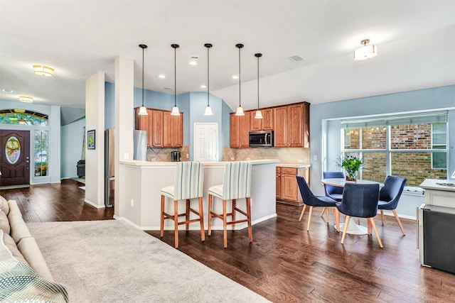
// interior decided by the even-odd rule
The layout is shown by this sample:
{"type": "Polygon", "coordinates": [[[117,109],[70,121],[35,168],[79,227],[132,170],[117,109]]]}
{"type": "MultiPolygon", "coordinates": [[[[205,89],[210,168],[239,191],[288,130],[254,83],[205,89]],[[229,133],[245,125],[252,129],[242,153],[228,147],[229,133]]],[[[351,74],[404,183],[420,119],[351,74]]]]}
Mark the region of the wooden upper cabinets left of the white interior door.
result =
{"type": "Polygon", "coordinates": [[[150,148],[181,148],[183,146],[183,113],[171,116],[171,111],[147,109],[146,116],[139,116],[139,107],[134,109],[136,129],[147,131],[147,146],[150,148]]]}

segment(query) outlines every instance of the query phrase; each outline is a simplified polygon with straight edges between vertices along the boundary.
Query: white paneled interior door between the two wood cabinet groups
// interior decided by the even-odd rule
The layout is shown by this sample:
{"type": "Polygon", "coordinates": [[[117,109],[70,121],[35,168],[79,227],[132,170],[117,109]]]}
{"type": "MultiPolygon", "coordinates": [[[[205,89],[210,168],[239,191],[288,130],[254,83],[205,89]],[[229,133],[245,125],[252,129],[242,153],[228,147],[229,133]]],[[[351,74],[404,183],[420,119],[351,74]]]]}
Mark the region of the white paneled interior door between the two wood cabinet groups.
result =
{"type": "Polygon", "coordinates": [[[218,123],[194,123],[194,160],[218,161],[218,123]]]}

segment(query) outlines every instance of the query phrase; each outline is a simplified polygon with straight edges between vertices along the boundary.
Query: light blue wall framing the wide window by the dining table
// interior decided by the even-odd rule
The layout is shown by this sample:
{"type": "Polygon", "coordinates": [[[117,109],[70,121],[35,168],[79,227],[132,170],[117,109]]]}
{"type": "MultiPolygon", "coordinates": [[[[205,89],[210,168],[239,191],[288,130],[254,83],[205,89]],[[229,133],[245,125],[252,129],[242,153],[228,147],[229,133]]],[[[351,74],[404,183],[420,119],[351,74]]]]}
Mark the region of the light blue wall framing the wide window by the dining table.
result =
{"type": "MultiPolygon", "coordinates": [[[[311,105],[311,189],[316,194],[323,194],[323,187],[319,185],[319,181],[323,170],[323,144],[328,120],[436,109],[455,109],[455,85],[311,105]],[[314,155],[318,160],[313,160],[314,155]]],[[[455,170],[454,144],[455,114],[454,111],[449,111],[449,172],[455,170]]]]}

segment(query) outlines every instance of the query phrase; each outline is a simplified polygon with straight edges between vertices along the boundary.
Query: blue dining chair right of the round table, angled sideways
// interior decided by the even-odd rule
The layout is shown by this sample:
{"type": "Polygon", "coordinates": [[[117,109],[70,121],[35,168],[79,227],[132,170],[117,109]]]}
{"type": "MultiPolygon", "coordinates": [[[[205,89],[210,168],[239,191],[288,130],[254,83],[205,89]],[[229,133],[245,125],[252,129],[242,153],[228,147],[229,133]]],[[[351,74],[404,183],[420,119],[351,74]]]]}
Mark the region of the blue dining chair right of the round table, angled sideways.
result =
{"type": "Polygon", "coordinates": [[[387,176],[385,177],[384,187],[379,192],[379,203],[378,209],[381,211],[381,223],[384,225],[384,210],[392,211],[395,219],[397,220],[398,226],[400,226],[403,236],[406,236],[405,229],[401,225],[400,218],[397,215],[395,209],[400,201],[401,194],[405,188],[406,178],[387,176]]]}

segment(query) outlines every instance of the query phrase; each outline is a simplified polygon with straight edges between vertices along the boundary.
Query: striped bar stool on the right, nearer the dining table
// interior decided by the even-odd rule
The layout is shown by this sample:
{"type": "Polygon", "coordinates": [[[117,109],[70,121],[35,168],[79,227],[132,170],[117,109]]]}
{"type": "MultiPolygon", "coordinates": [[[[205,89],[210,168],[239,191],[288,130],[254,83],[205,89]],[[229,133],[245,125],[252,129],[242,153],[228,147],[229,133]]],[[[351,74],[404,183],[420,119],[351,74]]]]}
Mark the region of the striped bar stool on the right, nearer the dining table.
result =
{"type": "Polygon", "coordinates": [[[247,222],[248,239],[253,240],[250,211],[250,192],[251,192],[251,172],[250,162],[229,162],[225,165],[224,181],[222,185],[215,185],[208,189],[208,236],[212,233],[213,216],[223,220],[223,241],[224,247],[228,247],[228,225],[235,228],[235,224],[247,222]],[[223,214],[213,211],[213,197],[223,200],[223,214]],[[246,211],[237,208],[237,199],[245,199],[246,211]],[[227,212],[226,201],[232,200],[231,212],[227,212]],[[246,219],[236,220],[235,213],[239,212],[246,219]],[[231,217],[228,221],[227,217],[231,217]]]}

